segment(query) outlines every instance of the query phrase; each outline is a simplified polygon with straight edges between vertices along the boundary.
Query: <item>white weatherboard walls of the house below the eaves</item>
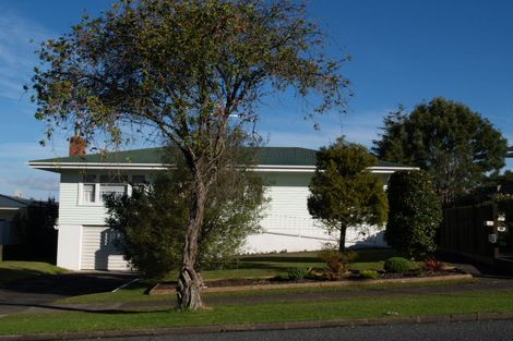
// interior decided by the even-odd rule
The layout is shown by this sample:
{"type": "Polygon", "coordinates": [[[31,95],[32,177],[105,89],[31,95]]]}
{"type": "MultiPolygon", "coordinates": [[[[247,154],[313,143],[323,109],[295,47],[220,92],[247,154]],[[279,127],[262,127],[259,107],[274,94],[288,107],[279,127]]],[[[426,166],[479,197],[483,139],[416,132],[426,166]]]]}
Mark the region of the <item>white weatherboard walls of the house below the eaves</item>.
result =
{"type": "MultiPolygon", "coordinates": [[[[270,198],[261,222],[263,233],[249,236],[242,252],[315,251],[326,243],[336,243],[337,235],[326,233],[308,212],[308,184],[312,173],[263,172],[262,175],[267,186],[266,197],[270,198]]],[[[122,256],[104,243],[109,240],[104,238],[105,207],[80,203],[81,179],[82,174],[76,171],[61,173],[57,265],[73,270],[92,269],[98,265],[108,269],[126,269],[122,256]],[[94,251],[95,247],[98,249],[94,251]],[[93,254],[104,260],[92,258],[93,254]]],[[[349,229],[346,240],[346,246],[384,245],[381,232],[374,227],[349,229]],[[365,235],[360,231],[365,231],[365,235]]]]}

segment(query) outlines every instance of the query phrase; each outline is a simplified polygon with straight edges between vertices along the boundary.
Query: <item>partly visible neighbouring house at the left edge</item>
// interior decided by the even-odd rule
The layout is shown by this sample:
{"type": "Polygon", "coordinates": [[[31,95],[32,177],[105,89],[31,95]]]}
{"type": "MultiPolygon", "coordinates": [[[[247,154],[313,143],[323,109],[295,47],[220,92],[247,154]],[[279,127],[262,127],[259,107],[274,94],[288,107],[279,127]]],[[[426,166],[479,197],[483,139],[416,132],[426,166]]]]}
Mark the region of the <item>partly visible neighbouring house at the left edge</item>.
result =
{"type": "Polygon", "coordinates": [[[0,245],[16,244],[16,233],[12,220],[17,212],[26,212],[32,200],[0,194],[0,245]]]}

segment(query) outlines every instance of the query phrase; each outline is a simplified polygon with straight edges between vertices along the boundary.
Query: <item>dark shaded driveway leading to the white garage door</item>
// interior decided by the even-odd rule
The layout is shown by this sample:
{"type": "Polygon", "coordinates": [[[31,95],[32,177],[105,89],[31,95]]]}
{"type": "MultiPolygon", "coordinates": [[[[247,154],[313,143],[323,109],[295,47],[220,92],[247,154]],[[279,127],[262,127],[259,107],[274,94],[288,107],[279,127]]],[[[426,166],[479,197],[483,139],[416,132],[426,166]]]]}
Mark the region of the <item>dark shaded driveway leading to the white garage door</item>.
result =
{"type": "Polygon", "coordinates": [[[10,282],[0,287],[0,316],[37,310],[59,299],[111,291],[134,278],[127,272],[71,272],[10,282]]]}

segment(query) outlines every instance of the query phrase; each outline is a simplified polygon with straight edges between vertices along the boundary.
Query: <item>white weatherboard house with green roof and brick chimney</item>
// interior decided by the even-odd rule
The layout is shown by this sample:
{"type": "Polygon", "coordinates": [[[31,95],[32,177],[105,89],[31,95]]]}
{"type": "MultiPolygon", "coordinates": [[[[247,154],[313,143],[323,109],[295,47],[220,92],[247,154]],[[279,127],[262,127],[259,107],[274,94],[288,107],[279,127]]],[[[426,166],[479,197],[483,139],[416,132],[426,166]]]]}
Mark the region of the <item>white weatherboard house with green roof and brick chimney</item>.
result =
{"type": "MultiPolygon", "coordinates": [[[[72,141],[73,144],[73,141],[72,141]]],[[[70,147],[70,154],[76,154],[70,147]]],[[[80,149],[80,146],[79,146],[80,149]]],[[[116,249],[117,235],[105,223],[103,196],[127,193],[131,185],[152,178],[166,169],[160,161],[160,149],[138,149],[100,155],[34,160],[36,169],[60,173],[59,243],[57,265],[71,270],[127,270],[129,265],[116,249]]],[[[271,199],[261,221],[263,233],[251,235],[246,252],[314,251],[337,235],[327,234],[312,220],[307,209],[308,184],[315,170],[315,150],[289,147],[265,147],[258,153],[254,171],[262,174],[271,199]]],[[[383,182],[396,170],[411,169],[381,162],[372,167],[383,182]]],[[[361,229],[360,229],[361,230],[361,229]]],[[[349,230],[347,246],[383,245],[382,232],[365,229],[365,234],[349,230]]]]}

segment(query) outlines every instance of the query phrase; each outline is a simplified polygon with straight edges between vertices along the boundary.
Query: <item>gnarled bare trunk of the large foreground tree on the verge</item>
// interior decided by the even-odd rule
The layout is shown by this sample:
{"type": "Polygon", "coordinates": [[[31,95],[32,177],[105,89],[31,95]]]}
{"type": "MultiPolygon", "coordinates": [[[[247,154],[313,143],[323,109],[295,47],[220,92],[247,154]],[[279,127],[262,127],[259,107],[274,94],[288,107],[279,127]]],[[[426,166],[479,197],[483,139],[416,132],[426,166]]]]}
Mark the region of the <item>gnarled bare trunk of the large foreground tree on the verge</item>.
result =
{"type": "Polygon", "coordinates": [[[206,200],[206,187],[203,182],[196,182],[195,192],[194,205],[187,227],[183,266],[177,283],[177,306],[181,310],[195,310],[204,307],[201,300],[203,279],[194,270],[198,255],[198,235],[203,222],[206,200]]]}

